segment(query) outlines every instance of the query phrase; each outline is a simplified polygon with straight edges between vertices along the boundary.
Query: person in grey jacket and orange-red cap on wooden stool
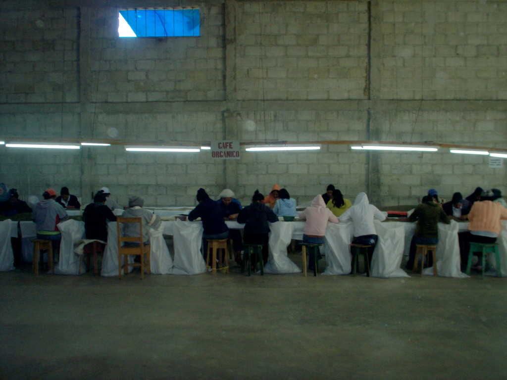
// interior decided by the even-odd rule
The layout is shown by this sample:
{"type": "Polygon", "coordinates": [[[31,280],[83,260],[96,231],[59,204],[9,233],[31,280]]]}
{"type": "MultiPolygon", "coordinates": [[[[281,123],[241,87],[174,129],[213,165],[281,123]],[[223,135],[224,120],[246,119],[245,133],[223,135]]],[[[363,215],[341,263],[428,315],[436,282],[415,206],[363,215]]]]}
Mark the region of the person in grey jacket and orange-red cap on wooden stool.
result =
{"type": "MultiPolygon", "coordinates": [[[[61,233],[57,224],[68,219],[65,209],[55,201],[56,192],[52,188],[46,189],[40,201],[33,207],[32,221],[37,230],[37,239],[51,240],[53,253],[60,250],[61,233]]],[[[54,256],[53,256],[54,257],[54,256]]]]}

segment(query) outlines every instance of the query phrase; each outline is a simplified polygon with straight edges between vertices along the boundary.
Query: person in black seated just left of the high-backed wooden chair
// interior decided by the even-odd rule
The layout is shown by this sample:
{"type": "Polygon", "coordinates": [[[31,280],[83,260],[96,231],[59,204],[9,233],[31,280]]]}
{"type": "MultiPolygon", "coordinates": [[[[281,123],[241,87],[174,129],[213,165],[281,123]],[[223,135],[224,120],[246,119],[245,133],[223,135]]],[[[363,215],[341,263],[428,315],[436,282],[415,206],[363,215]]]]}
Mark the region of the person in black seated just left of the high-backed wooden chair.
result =
{"type": "Polygon", "coordinates": [[[105,195],[95,194],[93,202],[83,211],[86,239],[96,239],[107,242],[107,220],[116,221],[113,211],[105,205],[105,195]]]}

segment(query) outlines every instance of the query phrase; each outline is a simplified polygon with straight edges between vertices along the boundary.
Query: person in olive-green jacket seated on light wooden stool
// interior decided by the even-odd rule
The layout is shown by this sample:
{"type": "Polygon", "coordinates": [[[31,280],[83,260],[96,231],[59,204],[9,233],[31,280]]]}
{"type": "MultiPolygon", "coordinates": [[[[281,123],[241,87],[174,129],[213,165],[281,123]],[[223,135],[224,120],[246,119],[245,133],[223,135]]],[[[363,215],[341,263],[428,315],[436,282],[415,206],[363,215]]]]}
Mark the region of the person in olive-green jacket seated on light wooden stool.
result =
{"type": "MultiPolygon", "coordinates": [[[[424,196],[422,202],[414,209],[409,216],[409,222],[417,221],[415,233],[410,243],[409,259],[406,268],[414,268],[416,244],[435,245],[439,242],[438,222],[449,224],[451,219],[446,215],[444,209],[434,202],[430,196],[424,196]]],[[[421,265],[423,265],[422,263],[421,265]]],[[[436,264],[436,263],[435,263],[436,264]]],[[[433,256],[428,255],[427,267],[433,266],[433,256]]]]}

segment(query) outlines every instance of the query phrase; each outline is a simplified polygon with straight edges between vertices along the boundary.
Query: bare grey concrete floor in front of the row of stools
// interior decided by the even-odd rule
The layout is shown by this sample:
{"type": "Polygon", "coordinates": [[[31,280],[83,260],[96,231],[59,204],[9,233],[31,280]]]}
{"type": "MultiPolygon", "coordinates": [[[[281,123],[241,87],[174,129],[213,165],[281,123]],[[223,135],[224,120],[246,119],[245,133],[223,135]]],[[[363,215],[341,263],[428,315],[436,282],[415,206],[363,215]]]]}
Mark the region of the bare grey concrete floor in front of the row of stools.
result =
{"type": "Polygon", "coordinates": [[[507,378],[505,278],[23,268],[0,284],[6,380],[507,378]]]}

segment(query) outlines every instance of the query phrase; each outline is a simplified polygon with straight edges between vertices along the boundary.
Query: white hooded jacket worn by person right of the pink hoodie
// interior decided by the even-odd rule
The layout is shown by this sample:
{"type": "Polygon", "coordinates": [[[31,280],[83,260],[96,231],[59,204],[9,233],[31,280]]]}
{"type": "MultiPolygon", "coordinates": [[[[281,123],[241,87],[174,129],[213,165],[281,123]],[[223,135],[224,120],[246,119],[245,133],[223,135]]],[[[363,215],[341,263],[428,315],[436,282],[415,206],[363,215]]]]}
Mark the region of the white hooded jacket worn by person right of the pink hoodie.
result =
{"type": "Polygon", "coordinates": [[[382,221],[385,219],[385,215],[368,202],[368,196],[365,193],[359,193],[355,197],[352,207],[345,211],[339,219],[340,222],[352,219],[354,223],[354,237],[358,237],[377,235],[373,219],[382,221]]]}

